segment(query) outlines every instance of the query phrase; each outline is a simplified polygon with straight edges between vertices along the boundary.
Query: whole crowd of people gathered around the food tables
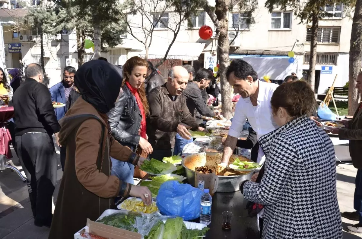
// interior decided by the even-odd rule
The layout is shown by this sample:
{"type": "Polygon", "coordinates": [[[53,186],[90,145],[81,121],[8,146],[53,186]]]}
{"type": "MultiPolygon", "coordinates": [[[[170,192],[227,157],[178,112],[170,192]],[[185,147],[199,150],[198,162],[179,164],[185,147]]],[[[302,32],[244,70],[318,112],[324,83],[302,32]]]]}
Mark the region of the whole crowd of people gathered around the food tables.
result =
{"type": "MultiPolygon", "coordinates": [[[[34,225],[50,227],[51,239],[72,238],[87,218],[96,220],[120,197],[140,197],[150,204],[150,190],[133,181],[144,176],[143,162],[179,155],[192,142],[189,129],[206,131],[203,117],[218,114],[212,110],[220,92],[212,69],[195,73],[191,65],[174,66],[164,80],[150,61],[138,56],[123,66],[98,59],[78,70],[67,66],[63,80],[50,90],[42,84],[38,64],[29,64],[24,73],[25,80],[10,73],[10,87],[1,69],[0,98],[14,106],[13,144],[29,181],[34,225]],[[52,102],[66,106],[54,109],[52,102]],[[64,171],[54,215],[53,134],[64,171]]],[[[261,81],[240,59],[231,62],[226,77],[240,97],[218,170],[226,169],[236,146],[252,149],[252,160],[263,164],[251,181],[240,183],[245,199],[263,205],[262,238],[342,238],[334,147],[311,120],[316,110],[311,87],[296,75],[280,86],[261,81]],[[247,140],[239,140],[245,129],[247,140]]],[[[360,91],[361,81],[362,75],[360,91]]],[[[334,132],[351,140],[357,168],[362,121],[355,118],[361,108],[352,123],[344,122],[346,129],[334,132]]],[[[345,213],[361,222],[349,228],[357,233],[362,233],[361,175],[358,169],[357,212],[345,213]]]]}

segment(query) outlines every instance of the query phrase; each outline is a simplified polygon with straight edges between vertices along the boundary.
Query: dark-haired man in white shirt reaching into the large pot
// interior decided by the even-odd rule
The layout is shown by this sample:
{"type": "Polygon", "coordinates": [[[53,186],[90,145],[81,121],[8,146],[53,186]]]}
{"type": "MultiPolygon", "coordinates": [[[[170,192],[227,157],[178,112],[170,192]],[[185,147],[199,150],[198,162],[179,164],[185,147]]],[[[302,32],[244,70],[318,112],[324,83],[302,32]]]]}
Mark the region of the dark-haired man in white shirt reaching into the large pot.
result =
{"type": "MultiPolygon", "coordinates": [[[[258,139],[277,129],[273,121],[270,99],[278,85],[258,80],[258,75],[252,66],[241,59],[231,62],[227,68],[226,77],[233,86],[235,94],[239,93],[241,97],[236,104],[235,115],[224,143],[222,161],[218,170],[227,166],[247,119],[256,131],[258,139]]],[[[264,159],[264,152],[259,148],[257,162],[263,163],[264,159]]]]}

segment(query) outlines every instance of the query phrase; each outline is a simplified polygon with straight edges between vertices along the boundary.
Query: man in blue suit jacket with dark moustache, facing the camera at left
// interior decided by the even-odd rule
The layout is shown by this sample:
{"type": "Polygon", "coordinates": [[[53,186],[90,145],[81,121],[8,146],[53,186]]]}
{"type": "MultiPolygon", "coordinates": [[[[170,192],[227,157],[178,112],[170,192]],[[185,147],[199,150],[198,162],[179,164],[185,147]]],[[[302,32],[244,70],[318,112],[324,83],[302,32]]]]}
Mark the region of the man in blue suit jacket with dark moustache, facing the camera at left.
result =
{"type": "MultiPolygon", "coordinates": [[[[74,84],[75,68],[73,66],[66,66],[63,70],[63,81],[50,87],[51,101],[68,104],[69,94],[74,84]]],[[[67,107],[56,108],[56,119],[61,119],[67,113],[67,107]]]]}

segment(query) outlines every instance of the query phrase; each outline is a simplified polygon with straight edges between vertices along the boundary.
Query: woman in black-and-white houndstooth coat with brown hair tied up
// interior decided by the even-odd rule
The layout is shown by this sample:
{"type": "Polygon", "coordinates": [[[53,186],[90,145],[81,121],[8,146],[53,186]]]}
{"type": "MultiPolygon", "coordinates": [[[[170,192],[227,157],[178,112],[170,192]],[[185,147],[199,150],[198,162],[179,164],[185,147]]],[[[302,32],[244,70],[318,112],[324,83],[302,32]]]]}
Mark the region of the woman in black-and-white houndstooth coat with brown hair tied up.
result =
{"type": "Polygon", "coordinates": [[[334,146],[307,115],[314,92],[304,81],[279,86],[271,98],[280,127],[259,139],[260,183],[240,184],[245,199],[264,205],[262,239],[341,239],[334,146]]]}

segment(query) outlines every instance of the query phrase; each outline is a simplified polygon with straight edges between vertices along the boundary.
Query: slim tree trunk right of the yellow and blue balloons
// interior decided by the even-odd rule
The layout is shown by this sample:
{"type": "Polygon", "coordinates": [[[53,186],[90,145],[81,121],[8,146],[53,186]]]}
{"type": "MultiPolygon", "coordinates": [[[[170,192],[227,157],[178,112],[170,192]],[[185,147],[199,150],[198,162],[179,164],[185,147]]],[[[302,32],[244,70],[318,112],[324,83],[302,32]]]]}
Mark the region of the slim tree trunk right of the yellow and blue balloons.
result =
{"type": "Polygon", "coordinates": [[[318,91],[318,89],[315,88],[318,22],[319,22],[318,13],[315,13],[312,16],[311,53],[309,58],[309,74],[308,74],[308,82],[311,84],[311,87],[315,93],[317,93],[318,91]]]}

